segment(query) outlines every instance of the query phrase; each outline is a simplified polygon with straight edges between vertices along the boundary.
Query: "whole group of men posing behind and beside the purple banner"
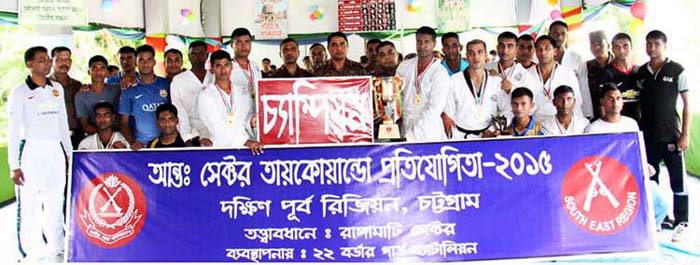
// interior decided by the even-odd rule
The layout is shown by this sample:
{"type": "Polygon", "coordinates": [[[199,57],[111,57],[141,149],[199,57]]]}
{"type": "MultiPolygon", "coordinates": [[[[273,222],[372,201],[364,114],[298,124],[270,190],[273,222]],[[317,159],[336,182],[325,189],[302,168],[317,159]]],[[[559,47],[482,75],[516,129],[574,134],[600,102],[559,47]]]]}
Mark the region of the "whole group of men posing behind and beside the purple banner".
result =
{"type": "MultiPolygon", "coordinates": [[[[347,37],[336,32],[327,39],[328,60],[322,44],[311,46],[312,62],[306,67],[311,69],[297,64],[298,43],[288,38],[280,43],[284,64],[264,73],[248,58],[250,32],[238,28],[231,34],[233,57],[224,50],[209,54],[206,43],[195,41],[189,45],[189,70],[182,69],[180,51],[166,51],[168,75],[163,78],[154,73],[152,47],[122,47],[121,72],[107,78],[107,60],[94,56],[88,62],[91,83],[86,85],[68,76],[68,48],[55,48],[49,54],[44,47],[32,47],[24,56],[31,73],[9,99],[8,157],[22,205],[20,253],[62,259],[64,173],[73,146],[132,150],[247,146],[254,154],[262,153],[262,145],[254,140],[252,95],[255,81],[263,74],[277,78],[400,76],[401,131],[409,142],[638,131],[641,127],[647,159],[655,169],[652,179],[658,182],[662,159],[669,169],[675,221],[667,217],[664,227],[675,227],[674,240],[681,240],[688,222],[683,151],[689,144],[690,112],[683,68],[664,55],[666,36],[650,32],[646,38],[650,61],[636,66],[629,35],[615,35],[611,53],[604,35],[591,33],[596,58],[583,62],[566,50],[567,31],[567,25],[557,21],[549,35],[537,39],[504,32],[498,36],[499,60],[487,64],[484,41],[469,41],[465,60],[455,33],[442,36],[444,59],[438,60],[434,57],[436,32],[422,27],[416,32],[414,58],[407,56],[399,63],[392,42],[371,40],[365,47],[366,67],[347,58],[347,37]],[[676,111],[679,95],[682,123],[676,111]],[[509,122],[498,126],[494,117],[509,122]],[[40,220],[47,225],[38,225],[40,220]]],[[[666,212],[658,215],[661,223],[666,212]]]]}

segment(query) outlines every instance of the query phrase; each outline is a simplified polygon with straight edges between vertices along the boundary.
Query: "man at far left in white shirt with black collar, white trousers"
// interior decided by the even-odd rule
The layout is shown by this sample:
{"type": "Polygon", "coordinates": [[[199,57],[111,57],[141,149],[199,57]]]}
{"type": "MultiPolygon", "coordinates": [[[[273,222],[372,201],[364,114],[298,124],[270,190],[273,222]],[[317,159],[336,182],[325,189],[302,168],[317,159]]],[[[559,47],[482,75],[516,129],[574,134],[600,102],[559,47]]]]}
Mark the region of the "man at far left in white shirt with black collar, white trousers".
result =
{"type": "Polygon", "coordinates": [[[46,48],[29,48],[24,62],[31,76],[12,90],[8,133],[8,162],[19,211],[19,250],[30,262],[46,255],[61,262],[66,159],[73,150],[64,91],[58,82],[46,78],[51,70],[46,48]]]}

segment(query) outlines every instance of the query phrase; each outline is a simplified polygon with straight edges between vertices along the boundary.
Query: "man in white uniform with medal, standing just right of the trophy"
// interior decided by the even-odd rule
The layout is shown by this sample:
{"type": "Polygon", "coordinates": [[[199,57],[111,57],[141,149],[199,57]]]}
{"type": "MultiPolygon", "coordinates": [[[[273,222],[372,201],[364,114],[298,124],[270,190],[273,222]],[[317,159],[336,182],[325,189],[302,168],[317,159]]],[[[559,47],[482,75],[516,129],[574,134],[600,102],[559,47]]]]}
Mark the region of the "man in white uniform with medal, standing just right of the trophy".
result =
{"type": "Polygon", "coordinates": [[[418,56],[403,61],[396,74],[403,79],[403,122],[401,134],[408,142],[445,139],[440,114],[449,94],[449,75],[433,57],[435,30],[421,27],[416,32],[418,56]]]}

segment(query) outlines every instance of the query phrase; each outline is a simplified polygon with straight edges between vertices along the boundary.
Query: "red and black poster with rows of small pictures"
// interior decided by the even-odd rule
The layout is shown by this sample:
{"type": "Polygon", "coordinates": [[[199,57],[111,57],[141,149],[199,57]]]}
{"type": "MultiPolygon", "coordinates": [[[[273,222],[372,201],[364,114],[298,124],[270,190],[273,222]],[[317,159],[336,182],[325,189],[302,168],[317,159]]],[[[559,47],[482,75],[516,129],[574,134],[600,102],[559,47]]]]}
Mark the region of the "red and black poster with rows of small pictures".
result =
{"type": "Polygon", "coordinates": [[[338,30],[342,32],[396,30],[394,0],[338,1],[338,30]]]}

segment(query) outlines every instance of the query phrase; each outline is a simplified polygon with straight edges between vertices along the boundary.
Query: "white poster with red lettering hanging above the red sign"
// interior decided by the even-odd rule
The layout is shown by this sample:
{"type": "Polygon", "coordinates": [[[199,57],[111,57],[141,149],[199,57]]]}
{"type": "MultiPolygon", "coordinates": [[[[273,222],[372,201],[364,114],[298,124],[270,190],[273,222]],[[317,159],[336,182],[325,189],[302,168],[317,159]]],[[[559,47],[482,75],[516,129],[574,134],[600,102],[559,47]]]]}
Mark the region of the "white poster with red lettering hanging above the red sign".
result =
{"type": "Polygon", "coordinates": [[[257,0],[255,14],[255,39],[279,40],[287,37],[287,0],[257,0]]]}

